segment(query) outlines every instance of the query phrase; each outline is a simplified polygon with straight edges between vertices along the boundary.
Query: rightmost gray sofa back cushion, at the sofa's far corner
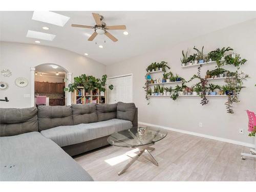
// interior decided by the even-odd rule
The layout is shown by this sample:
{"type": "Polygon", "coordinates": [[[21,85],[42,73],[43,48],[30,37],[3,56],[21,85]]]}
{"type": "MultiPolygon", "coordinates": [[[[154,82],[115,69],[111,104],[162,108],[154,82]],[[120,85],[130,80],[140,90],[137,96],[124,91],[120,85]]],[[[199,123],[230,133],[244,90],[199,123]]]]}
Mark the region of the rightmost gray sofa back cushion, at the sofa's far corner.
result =
{"type": "Polygon", "coordinates": [[[135,111],[136,111],[136,106],[134,103],[123,103],[123,102],[117,103],[117,112],[116,112],[117,119],[133,121],[135,111]]]}

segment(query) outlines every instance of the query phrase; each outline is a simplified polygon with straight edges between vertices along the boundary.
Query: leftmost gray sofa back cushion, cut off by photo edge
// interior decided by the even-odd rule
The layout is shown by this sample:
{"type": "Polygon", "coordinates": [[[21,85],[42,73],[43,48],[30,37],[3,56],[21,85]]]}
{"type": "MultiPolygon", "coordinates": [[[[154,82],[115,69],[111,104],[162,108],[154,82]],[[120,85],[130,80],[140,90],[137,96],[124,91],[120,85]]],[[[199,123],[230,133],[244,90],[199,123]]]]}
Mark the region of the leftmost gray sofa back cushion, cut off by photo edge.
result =
{"type": "Polygon", "coordinates": [[[0,136],[37,132],[37,108],[0,109],[0,136]]]}

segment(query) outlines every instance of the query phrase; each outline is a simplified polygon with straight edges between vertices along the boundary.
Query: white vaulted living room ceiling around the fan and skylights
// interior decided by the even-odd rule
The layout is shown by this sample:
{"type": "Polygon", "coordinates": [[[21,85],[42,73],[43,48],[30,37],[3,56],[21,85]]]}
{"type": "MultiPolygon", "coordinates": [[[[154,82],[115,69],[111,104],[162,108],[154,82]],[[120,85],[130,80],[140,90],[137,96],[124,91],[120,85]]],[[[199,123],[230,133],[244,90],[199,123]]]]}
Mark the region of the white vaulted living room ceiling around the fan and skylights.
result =
{"type": "Polygon", "coordinates": [[[98,35],[94,41],[88,41],[93,29],[74,28],[71,24],[94,25],[89,11],[54,11],[69,16],[64,27],[32,20],[33,11],[2,11],[1,40],[35,44],[35,40],[26,37],[28,30],[55,34],[53,41],[40,40],[40,45],[67,49],[78,54],[88,53],[90,58],[105,65],[172,46],[181,41],[195,38],[230,25],[256,18],[256,12],[152,12],[152,11],[94,11],[104,16],[107,25],[126,25],[124,30],[109,30],[119,40],[111,41],[105,35],[98,35]],[[43,30],[47,26],[50,30],[43,30]],[[106,42],[104,43],[104,40],[106,42]],[[95,45],[97,42],[97,45],[95,45]],[[98,45],[103,45],[100,49],[98,45]]]}

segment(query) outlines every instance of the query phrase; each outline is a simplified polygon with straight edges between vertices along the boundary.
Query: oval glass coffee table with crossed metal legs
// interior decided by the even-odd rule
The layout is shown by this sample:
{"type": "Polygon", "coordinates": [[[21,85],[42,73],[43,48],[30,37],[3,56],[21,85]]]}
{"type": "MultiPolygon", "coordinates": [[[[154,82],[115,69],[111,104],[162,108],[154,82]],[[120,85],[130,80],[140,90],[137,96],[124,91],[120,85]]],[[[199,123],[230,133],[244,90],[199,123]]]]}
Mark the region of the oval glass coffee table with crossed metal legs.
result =
{"type": "Polygon", "coordinates": [[[114,146],[120,147],[132,147],[138,148],[139,154],[133,157],[133,159],[118,173],[121,175],[129,168],[144,152],[148,154],[152,163],[158,166],[157,161],[151,155],[149,151],[155,150],[155,142],[160,141],[167,135],[167,132],[163,129],[147,126],[147,127],[133,127],[129,130],[123,130],[112,134],[108,138],[108,142],[114,146]]]}

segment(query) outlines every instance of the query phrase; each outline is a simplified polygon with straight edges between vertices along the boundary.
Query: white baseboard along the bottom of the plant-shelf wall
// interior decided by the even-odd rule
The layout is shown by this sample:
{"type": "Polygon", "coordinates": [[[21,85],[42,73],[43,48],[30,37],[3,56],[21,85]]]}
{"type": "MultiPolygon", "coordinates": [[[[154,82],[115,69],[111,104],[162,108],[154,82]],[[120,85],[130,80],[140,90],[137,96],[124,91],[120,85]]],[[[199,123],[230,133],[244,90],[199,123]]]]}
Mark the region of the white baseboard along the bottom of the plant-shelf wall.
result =
{"type": "Polygon", "coordinates": [[[179,130],[179,129],[174,129],[174,128],[167,127],[167,126],[161,126],[161,125],[145,123],[145,122],[140,122],[140,121],[138,123],[143,124],[143,125],[147,125],[147,126],[157,126],[157,127],[162,128],[162,129],[165,129],[165,130],[185,133],[185,134],[189,134],[189,135],[195,135],[195,136],[204,137],[204,138],[208,138],[208,139],[214,139],[214,140],[223,141],[223,142],[227,142],[227,143],[232,143],[232,144],[237,144],[237,145],[242,145],[242,146],[247,146],[247,147],[252,147],[252,148],[255,147],[254,144],[252,144],[252,143],[245,143],[245,142],[241,142],[241,141],[225,139],[225,138],[222,138],[222,137],[215,137],[215,136],[205,135],[205,134],[201,134],[201,133],[189,132],[189,131],[185,131],[185,130],[179,130]]]}

